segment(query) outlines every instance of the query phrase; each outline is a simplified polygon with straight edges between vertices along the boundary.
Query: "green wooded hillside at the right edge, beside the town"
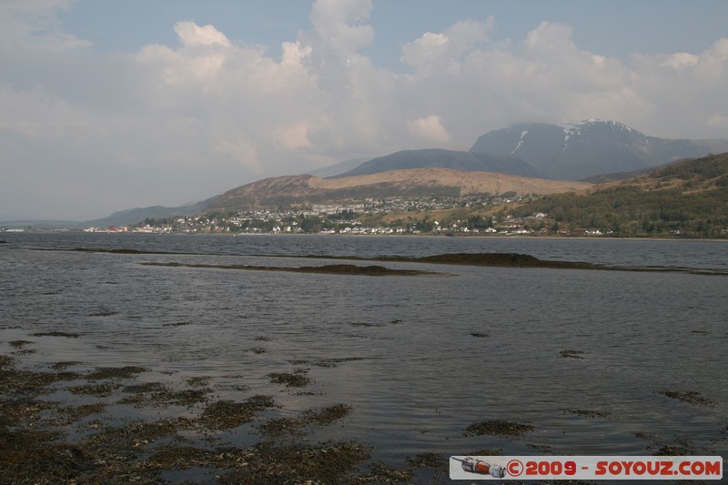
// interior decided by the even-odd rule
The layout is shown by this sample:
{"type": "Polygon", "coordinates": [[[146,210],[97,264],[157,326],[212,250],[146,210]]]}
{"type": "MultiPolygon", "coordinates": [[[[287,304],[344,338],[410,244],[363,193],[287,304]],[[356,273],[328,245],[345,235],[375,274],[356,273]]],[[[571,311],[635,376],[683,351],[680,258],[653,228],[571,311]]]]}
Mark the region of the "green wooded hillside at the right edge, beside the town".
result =
{"type": "Polygon", "coordinates": [[[728,237],[728,153],[686,160],[587,194],[542,197],[511,214],[542,212],[550,228],[615,237],[728,237]]]}

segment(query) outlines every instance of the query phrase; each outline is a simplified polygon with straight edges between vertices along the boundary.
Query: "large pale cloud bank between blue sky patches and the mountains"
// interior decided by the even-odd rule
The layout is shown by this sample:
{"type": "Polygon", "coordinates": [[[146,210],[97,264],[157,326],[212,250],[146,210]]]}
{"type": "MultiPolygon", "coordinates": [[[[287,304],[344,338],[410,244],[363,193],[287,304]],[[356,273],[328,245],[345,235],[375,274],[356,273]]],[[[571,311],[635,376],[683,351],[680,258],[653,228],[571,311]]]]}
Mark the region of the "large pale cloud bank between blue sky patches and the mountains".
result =
{"type": "Polygon", "coordinates": [[[0,3],[3,213],[179,204],[351,157],[467,149],[518,121],[598,117],[672,137],[728,129],[725,38],[702,53],[622,60],[580,48],[569,25],[534,25],[509,44],[491,40],[492,18],[466,19],[402,45],[402,74],[362,54],[370,1],[316,1],[312,30],[277,53],[181,21],[167,27],[177,45],[98,54],[63,31],[68,5],[0,3]],[[83,187],[107,197],[79,208],[83,187]]]}

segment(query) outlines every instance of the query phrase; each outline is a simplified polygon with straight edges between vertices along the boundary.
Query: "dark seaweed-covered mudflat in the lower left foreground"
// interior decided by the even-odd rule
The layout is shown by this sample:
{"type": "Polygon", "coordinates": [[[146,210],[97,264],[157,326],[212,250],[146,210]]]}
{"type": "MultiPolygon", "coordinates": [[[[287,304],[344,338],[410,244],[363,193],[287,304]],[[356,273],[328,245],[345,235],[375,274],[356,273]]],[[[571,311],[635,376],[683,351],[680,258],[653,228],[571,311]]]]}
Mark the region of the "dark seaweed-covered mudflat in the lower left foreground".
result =
{"type": "MultiPolygon", "coordinates": [[[[15,348],[30,344],[16,342],[15,348]]],[[[147,369],[96,368],[86,374],[65,369],[79,362],[57,362],[47,371],[16,367],[17,357],[0,355],[0,476],[4,483],[166,483],[184,480],[187,470],[217,483],[405,483],[426,469],[445,480],[444,455],[424,453],[394,468],[371,460],[371,445],[351,440],[316,442],[308,434],[345,419],[349,404],[308,409],[271,418],[278,409],[271,396],[242,401],[215,399],[204,378],[187,379],[195,389],[139,382],[147,369]],[[88,384],[69,385],[78,380],[88,384]],[[126,385],[125,385],[126,384],[126,385]],[[44,396],[65,389],[102,399],[70,407],[44,396]],[[118,397],[121,396],[120,399],[118,397]],[[130,404],[153,410],[171,405],[191,416],[118,422],[110,406],[130,404]],[[236,446],[217,435],[253,425],[260,440],[236,446]],[[72,435],[81,438],[71,439],[72,435]]],[[[310,383],[303,372],[277,373],[272,382],[286,387],[310,383]]],[[[152,414],[152,413],[150,413],[152,414]]]]}

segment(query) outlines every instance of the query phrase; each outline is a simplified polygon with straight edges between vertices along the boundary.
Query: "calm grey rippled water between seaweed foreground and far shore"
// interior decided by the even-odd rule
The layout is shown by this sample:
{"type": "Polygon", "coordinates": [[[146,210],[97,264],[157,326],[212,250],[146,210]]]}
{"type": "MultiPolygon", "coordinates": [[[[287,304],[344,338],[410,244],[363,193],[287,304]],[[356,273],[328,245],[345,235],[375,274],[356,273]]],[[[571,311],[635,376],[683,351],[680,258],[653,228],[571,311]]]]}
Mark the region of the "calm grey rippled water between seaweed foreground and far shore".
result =
{"type": "MultiPolygon", "coordinates": [[[[352,413],[313,438],[368,442],[377,447],[377,458],[399,466],[415,453],[484,448],[514,455],[650,454],[663,446],[699,455],[728,452],[725,276],[377,263],[441,275],[365,277],[139,264],[311,266],[327,261],[297,257],[519,252],[726,271],[725,242],[110,234],[0,239],[6,241],[0,245],[0,352],[14,350],[9,341],[32,340],[37,352],[18,358],[27,365],[80,360],[88,368],[145,366],[151,370],[139,379],[149,381],[210,377],[221,399],[275,396],[282,406],[278,415],[348,403],[352,413]],[[39,331],[81,338],[30,336],[39,331]],[[582,359],[561,357],[567,349],[583,352],[582,359]],[[294,369],[308,369],[314,380],[305,394],[266,377],[294,369]],[[658,392],[666,389],[697,391],[716,404],[695,406],[658,392]],[[508,439],[462,436],[470,423],[487,419],[528,422],[534,431],[508,439]]],[[[124,406],[107,411],[118,419],[145,412],[124,406]]],[[[255,442],[249,431],[238,429],[228,438],[255,442]]]]}

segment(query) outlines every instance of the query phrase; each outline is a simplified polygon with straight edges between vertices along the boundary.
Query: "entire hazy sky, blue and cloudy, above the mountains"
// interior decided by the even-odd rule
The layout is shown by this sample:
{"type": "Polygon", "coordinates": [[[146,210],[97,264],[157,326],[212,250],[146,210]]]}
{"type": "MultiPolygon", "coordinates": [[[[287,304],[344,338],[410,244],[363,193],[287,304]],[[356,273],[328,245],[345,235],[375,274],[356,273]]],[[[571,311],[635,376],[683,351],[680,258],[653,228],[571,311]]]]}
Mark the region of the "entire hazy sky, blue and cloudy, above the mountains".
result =
{"type": "Polygon", "coordinates": [[[728,137],[724,0],[0,0],[0,220],[175,207],[519,122],[728,137]]]}

